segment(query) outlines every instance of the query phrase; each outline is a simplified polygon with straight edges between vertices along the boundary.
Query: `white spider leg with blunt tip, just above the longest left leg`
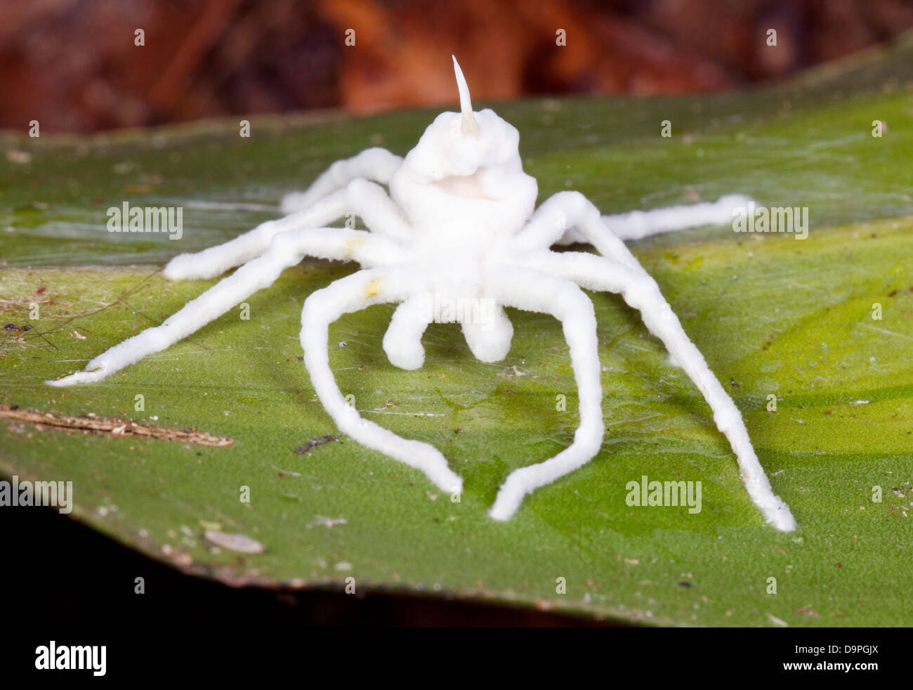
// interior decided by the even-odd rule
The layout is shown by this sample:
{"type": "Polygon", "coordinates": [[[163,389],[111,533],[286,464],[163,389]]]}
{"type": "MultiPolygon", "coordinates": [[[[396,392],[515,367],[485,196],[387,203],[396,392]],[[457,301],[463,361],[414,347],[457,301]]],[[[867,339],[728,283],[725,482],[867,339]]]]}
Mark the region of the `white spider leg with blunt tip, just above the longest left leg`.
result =
{"type": "MultiPolygon", "coordinates": [[[[382,186],[355,179],[342,189],[326,196],[311,207],[285,218],[268,220],[225,244],[194,254],[179,254],[165,266],[164,275],[173,281],[215,278],[225,271],[255,259],[269,249],[269,243],[281,232],[320,228],[352,213],[379,235],[406,239],[411,230],[403,212],[382,186]]],[[[370,265],[374,265],[369,262],[370,265]]]]}

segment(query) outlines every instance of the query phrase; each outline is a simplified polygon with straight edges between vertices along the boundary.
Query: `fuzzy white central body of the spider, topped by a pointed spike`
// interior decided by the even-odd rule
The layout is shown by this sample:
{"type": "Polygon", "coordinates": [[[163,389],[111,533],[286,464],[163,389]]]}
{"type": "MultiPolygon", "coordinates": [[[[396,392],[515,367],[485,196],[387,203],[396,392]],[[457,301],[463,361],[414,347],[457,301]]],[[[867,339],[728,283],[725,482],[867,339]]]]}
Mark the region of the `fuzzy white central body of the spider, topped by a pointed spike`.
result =
{"type": "MultiPolygon", "coordinates": [[[[466,101],[465,82],[457,74],[466,101]]],[[[477,322],[479,332],[491,333],[498,323],[481,318],[480,309],[451,309],[448,315],[440,307],[495,301],[485,276],[508,255],[510,239],[535,209],[539,187],[523,172],[516,128],[494,111],[472,117],[478,122],[475,135],[466,133],[463,115],[441,113],[391,175],[389,187],[410,221],[409,245],[425,284],[425,303],[432,305],[431,320],[469,327],[467,321],[477,322]]],[[[501,316],[497,307],[491,312],[501,316]]],[[[503,341],[509,322],[498,321],[503,341]]],[[[506,356],[509,335],[506,344],[494,338],[477,342],[469,336],[474,355],[486,362],[506,356]]]]}

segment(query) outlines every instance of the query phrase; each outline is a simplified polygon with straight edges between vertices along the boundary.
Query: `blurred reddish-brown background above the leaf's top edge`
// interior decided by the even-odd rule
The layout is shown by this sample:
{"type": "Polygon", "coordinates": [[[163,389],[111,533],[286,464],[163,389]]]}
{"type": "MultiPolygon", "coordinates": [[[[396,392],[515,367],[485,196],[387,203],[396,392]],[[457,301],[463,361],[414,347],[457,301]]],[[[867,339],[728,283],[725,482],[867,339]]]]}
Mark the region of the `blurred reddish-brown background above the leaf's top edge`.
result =
{"type": "Polygon", "coordinates": [[[909,27],[910,0],[0,0],[0,128],[452,103],[451,53],[475,100],[725,90],[909,27]]]}

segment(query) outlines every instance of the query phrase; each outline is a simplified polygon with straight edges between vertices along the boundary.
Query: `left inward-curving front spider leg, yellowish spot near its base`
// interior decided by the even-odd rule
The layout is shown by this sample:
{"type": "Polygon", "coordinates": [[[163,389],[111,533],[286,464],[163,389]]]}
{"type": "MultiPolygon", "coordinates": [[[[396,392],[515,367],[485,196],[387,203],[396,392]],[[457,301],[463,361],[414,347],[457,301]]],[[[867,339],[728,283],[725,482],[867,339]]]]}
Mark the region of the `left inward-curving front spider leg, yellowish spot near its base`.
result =
{"type": "Polygon", "coordinates": [[[447,467],[446,458],[434,446],[409,441],[384,429],[358,412],[342,397],[330,368],[327,347],[330,324],[343,313],[371,304],[399,302],[415,294],[415,281],[407,271],[369,269],[332,282],[312,292],[301,311],[301,345],[310,382],[336,426],[363,446],[383,452],[410,467],[425,472],[444,491],[462,490],[463,480],[447,467]]]}

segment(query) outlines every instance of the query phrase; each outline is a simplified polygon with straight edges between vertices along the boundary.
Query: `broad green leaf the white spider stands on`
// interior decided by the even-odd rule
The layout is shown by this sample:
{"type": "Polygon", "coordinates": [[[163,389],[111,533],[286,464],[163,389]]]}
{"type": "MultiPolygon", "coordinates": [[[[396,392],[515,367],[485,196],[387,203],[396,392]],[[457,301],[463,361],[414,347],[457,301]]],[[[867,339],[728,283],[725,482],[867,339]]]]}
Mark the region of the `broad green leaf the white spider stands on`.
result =
{"type": "Polygon", "coordinates": [[[331,343],[345,343],[331,351],[343,393],[365,418],[444,451],[466,480],[459,503],[344,436],[295,452],[337,433],[299,361],[301,304],[350,265],[306,261],[248,300],[249,320],[232,310],[98,384],[42,384],[215,283],[165,281],[164,260],[276,217],[284,192],[337,158],[377,144],[405,153],[432,111],[261,118],[250,139],[234,122],[35,141],[5,134],[0,310],[13,329],[0,331],[0,402],[19,409],[0,411],[0,472],[72,480],[80,520],[235,584],[352,577],[362,590],[656,624],[908,625],[911,56],[907,38],[750,93],[494,106],[519,128],[542,198],[580,189],[613,212],[739,192],[809,207],[801,241],[699,228],[633,245],[742,410],[795,533],[764,525],[707,404],[614,295],[592,295],[603,450],[528,497],[508,523],[486,515],[498,485],[566,447],[577,423],[567,347],[551,317],[510,313],[516,335],[498,365],[477,362],[456,326],[432,324],[415,372],[383,355],[392,307],[331,328],[331,343]],[[659,136],[663,120],[670,139],[659,136]],[[874,120],[887,126],[881,138],[874,120]],[[124,200],[184,207],[184,238],[109,234],[106,209],[124,200]],[[30,319],[36,302],[40,316],[30,319]],[[556,409],[560,395],[566,411],[556,409]],[[142,438],[131,427],[65,432],[16,419],[26,409],[195,428],[234,443],[142,438]],[[644,475],[701,482],[701,511],[627,505],[626,484],[644,475]],[[247,541],[207,541],[206,532],[247,541]]]}

